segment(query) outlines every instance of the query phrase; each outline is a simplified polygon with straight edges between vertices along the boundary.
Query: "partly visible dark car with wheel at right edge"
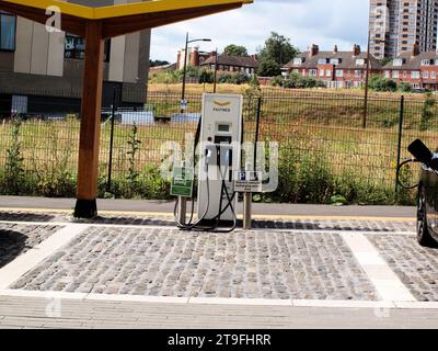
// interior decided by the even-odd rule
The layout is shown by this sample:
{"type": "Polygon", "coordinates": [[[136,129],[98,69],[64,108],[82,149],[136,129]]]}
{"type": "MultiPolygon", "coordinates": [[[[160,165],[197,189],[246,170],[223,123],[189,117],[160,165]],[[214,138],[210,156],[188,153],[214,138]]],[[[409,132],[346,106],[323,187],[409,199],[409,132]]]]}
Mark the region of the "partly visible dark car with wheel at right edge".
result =
{"type": "MultiPolygon", "coordinates": [[[[422,140],[408,148],[422,162],[417,201],[417,239],[424,247],[438,247],[438,154],[431,152],[422,140]]],[[[438,151],[438,150],[437,150],[438,151]]]]}

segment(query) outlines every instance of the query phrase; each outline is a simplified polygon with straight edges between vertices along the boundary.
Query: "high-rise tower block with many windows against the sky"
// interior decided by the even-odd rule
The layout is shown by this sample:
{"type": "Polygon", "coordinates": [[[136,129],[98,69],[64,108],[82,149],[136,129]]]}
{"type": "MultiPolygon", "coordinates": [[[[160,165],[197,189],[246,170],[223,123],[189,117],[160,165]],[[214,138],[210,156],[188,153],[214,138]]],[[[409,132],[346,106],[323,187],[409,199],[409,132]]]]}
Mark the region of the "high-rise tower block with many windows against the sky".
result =
{"type": "Polygon", "coordinates": [[[437,49],[438,0],[370,0],[370,52],[395,58],[413,50],[437,49]],[[382,43],[381,41],[384,41],[382,43]]]}

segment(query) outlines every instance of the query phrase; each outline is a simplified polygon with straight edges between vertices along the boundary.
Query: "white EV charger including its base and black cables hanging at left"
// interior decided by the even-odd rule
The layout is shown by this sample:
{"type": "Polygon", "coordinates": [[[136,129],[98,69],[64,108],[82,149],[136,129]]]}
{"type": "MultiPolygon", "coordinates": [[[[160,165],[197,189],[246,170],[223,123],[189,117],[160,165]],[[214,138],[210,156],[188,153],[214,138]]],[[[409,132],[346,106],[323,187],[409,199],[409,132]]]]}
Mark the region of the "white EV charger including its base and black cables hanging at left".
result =
{"type": "MultiPolygon", "coordinates": [[[[234,174],[241,170],[242,122],[242,95],[211,93],[203,95],[203,114],[197,132],[199,160],[195,169],[198,176],[197,220],[193,223],[194,199],[192,199],[192,216],[188,224],[181,220],[186,215],[188,196],[183,197],[181,193],[173,191],[172,194],[178,196],[175,204],[175,220],[180,229],[216,231],[235,229],[238,196],[234,191],[234,174]]],[[[187,183],[187,179],[181,177],[181,168],[177,172],[178,181],[187,183]]]]}

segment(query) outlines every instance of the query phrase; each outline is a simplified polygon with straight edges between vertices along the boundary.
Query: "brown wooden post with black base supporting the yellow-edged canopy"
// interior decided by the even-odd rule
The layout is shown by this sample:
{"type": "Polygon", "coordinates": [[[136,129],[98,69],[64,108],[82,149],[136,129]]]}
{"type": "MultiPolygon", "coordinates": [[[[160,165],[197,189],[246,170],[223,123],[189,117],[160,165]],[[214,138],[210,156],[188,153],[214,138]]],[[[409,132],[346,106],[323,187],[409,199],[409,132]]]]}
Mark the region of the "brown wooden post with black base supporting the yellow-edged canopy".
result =
{"type": "Polygon", "coordinates": [[[82,83],[82,114],[78,165],[78,200],[74,217],[97,215],[99,143],[103,87],[102,23],[88,21],[85,31],[85,61],[82,83]]]}

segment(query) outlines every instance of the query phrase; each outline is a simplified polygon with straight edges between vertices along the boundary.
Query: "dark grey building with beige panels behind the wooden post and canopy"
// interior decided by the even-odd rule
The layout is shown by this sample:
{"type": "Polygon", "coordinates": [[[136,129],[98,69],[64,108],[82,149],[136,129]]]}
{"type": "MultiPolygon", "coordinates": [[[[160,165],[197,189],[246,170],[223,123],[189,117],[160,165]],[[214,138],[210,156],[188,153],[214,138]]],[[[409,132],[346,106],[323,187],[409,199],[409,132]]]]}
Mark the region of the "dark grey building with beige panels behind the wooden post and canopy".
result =
{"type": "MultiPolygon", "coordinates": [[[[69,0],[93,7],[138,0],[69,0]]],[[[1,9],[0,9],[1,11],[1,9]]],[[[79,112],[84,39],[48,33],[36,22],[0,14],[0,113],[79,112]]],[[[149,69],[150,30],[105,43],[103,106],[114,90],[120,105],[142,105],[149,69]]]]}

